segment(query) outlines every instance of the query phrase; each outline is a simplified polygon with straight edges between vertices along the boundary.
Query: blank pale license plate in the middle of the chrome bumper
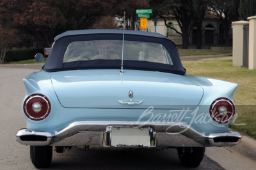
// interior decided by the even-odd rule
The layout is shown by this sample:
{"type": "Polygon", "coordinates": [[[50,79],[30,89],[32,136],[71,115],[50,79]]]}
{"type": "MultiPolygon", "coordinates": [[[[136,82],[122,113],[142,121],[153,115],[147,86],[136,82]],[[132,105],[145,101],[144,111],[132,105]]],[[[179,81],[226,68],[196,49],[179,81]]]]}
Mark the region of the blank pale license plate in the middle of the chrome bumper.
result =
{"type": "Polygon", "coordinates": [[[111,127],[111,146],[143,146],[150,145],[149,128],[111,127]]]}

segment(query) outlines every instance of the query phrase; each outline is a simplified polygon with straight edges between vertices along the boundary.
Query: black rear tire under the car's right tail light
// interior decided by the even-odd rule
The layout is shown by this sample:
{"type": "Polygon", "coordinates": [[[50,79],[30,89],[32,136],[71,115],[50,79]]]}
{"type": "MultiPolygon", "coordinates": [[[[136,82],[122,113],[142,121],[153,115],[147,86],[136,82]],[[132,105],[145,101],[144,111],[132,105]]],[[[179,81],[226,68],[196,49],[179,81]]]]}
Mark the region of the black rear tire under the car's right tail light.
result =
{"type": "Polygon", "coordinates": [[[179,159],[186,167],[198,167],[203,160],[205,147],[177,148],[179,159]]]}

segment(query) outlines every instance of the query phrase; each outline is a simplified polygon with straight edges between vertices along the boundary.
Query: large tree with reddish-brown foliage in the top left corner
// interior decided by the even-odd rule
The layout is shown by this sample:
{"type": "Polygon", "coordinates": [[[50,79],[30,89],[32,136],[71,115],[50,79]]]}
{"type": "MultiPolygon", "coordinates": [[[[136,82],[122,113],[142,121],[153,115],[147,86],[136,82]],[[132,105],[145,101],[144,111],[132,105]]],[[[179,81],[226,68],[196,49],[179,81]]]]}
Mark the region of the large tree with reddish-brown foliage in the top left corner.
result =
{"type": "Polygon", "coordinates": [[[45,46],[51,46],[56,27],[65,23],[55,1],[1,0],[2,23],[12,22],[17,29],[32,34],[45,46]]]}

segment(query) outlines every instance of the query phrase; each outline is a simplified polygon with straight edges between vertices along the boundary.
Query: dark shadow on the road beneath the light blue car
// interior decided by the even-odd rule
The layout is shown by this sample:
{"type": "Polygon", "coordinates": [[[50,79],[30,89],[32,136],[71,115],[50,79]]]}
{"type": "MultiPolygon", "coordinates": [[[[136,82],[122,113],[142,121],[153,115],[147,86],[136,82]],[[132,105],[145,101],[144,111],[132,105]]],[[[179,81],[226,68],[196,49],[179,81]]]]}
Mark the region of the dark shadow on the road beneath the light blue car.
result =
{"type": "MultiPolygon", "coordinates": [[[[53,154],[48,169],[189,169],[179,160],[176,149],[129,151],[81,151],[73,147],[70,151],[53,154]]],[[[199,167],[193,169],[223,169],[205,155],[199,167]]]]}

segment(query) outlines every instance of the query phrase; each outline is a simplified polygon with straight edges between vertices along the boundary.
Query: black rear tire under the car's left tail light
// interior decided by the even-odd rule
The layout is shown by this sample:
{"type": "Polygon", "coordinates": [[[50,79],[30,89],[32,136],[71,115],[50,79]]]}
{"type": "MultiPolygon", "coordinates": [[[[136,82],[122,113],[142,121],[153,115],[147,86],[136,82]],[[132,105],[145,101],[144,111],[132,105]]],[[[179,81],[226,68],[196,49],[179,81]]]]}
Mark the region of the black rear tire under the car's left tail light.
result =
{"type": "Polygon", "coordinates": [[[30,146],[30,159],[35,167],[48,167],[52,162],[52,146],[30,146]]]}

